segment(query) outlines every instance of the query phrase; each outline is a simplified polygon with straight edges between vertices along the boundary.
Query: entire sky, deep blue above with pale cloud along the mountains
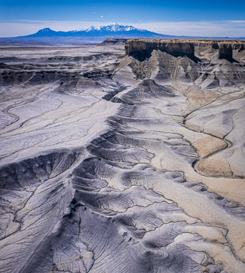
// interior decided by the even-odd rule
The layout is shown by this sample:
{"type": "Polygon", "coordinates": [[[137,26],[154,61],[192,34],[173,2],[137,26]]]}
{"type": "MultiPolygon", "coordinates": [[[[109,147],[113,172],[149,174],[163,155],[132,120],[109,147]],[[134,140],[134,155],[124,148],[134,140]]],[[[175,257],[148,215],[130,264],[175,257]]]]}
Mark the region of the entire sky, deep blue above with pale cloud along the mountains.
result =
{"type": "Polygon", "coordinates": [[[245,36],[245,1],[0,0],[0,37],[121,23],[163,34],[245,36]]]}

